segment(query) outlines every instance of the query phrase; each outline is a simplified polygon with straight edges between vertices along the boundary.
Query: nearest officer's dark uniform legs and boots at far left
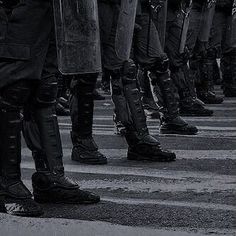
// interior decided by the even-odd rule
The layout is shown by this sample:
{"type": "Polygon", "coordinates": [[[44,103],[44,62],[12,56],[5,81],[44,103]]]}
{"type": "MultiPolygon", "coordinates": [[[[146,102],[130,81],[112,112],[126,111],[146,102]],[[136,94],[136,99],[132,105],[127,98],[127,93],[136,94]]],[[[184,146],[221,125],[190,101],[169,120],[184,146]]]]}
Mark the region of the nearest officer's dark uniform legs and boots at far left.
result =
{"type": "Polygon", "coordinates": [[[26,141],[37,153],[37,172],[32,176],[34,200],[98,202],[98,196],[79,190],[64,176],[55,115],[57,68],[52,3],[26,0],[4,7],[0,20],[0,195],[4,211],[20,216],[42,214],[21,181],[20,111],[25,106],[30,127],[25,127],[29,134],[26,141]]]}

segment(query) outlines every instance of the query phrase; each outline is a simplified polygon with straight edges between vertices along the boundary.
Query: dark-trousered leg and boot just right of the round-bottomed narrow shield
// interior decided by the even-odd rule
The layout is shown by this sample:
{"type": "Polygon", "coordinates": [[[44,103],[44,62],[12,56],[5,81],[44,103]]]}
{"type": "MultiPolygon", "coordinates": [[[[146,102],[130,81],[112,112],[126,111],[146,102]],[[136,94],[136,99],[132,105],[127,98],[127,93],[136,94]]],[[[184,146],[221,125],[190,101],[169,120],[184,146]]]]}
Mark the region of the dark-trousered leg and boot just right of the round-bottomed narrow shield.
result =
{"type": "Polygon", "coordinates": [[[148,1],[141,1],[141,12],[137,16],[137,23],[140,25],[140,30],[136,32],[134,38],[134,58],[140,68],[150,72],[154,93],[161,107],[161,133],[196,134],[197,128],[189,126],[179,116],[176,89],[170,77],[169,59],[161,45],[162,35],[154,24],[148,1]]]}

